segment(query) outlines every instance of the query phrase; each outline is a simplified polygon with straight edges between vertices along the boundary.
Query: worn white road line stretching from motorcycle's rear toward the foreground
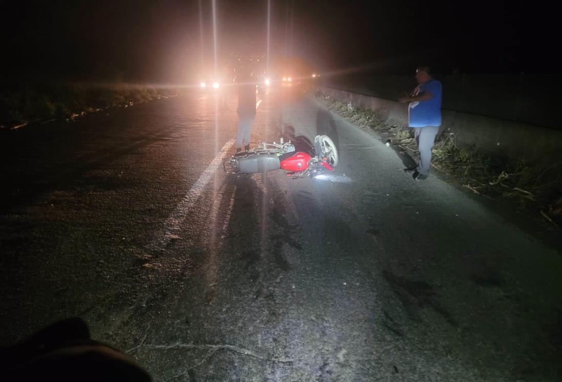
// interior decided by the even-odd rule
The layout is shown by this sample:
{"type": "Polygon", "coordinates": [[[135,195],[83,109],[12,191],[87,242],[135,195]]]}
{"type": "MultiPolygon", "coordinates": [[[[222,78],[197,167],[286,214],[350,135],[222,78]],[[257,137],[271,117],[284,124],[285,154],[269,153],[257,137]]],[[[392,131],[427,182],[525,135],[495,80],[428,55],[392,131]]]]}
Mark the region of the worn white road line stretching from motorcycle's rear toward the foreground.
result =
{"type": "Polygon", "coordinates": [[[212,175],[215,173],[216,169],[222,164],[224,157],[228,154],[230,148],[234,145],[234,139],[229,140],[225,143],[223,148],[220,149],[219,153],[212,160],[211,164],[203,171],[199,179],[195,184],[189,189],[187,194],[183,197],[182,201],[178,203],[174,211],[170,213],[170,216],[166,219],[164,223],[164,228],[156,235],[155,239],[149,246],[150,249],[158,250],[166,247],[170,243],[171,239],[179,238],[179,234],[182,231],[182,224],[191,212],[194,204],[203,194],[205,186],[211,180],[212,175]]]}

